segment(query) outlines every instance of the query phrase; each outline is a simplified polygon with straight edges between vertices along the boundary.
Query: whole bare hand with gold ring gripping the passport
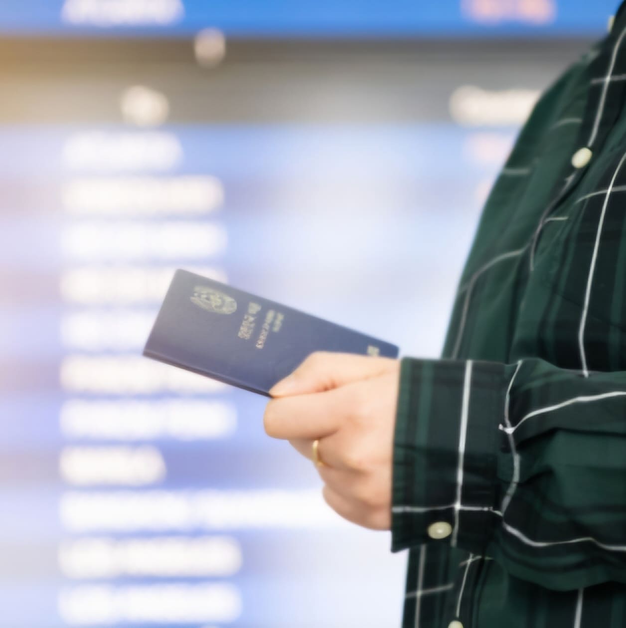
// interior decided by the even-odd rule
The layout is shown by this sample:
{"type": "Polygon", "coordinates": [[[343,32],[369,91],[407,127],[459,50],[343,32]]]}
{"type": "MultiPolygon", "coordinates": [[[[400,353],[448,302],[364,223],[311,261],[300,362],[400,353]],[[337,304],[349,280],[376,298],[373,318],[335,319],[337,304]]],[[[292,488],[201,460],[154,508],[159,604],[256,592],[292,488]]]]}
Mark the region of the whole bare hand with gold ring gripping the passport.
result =
{"type": "Polygon", "coordinates": [[[269,436],[289,440],[306,458],[320,439],[326,503],[365,528],[391,528],[399,374],[399,360],[316,352],[269,391],[263,417],[269,436]]]}

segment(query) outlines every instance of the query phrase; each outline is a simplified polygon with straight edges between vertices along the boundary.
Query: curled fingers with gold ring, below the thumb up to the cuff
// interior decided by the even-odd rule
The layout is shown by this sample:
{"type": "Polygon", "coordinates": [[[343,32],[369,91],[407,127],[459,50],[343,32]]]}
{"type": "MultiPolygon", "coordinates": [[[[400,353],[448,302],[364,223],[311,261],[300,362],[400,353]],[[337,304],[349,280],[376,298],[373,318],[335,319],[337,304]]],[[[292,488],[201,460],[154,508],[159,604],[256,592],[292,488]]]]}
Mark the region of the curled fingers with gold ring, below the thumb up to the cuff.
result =
{"type": "Polygon", "coordinates": [[[367,381],[275,398],[266,406],[270,436],[289,440],[309,460],[319,439],[324,499],[344,519],[365,528],[391,526],[398,378],[395,362],[389,372],[367,381]]]}

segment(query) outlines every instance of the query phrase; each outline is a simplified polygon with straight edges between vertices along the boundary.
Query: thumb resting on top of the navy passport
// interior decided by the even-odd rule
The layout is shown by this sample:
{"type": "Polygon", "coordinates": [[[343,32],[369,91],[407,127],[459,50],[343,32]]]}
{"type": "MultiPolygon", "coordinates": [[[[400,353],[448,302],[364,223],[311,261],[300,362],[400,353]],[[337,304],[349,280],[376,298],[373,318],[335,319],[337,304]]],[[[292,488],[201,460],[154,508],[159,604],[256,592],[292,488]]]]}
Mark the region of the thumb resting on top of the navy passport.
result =
{"type": "Polygon", "coordinates": [[[273,397],[321,393],[390,371],[397,360],[387,357],[316,351],[291,375],[270,389],[273,397]]]}

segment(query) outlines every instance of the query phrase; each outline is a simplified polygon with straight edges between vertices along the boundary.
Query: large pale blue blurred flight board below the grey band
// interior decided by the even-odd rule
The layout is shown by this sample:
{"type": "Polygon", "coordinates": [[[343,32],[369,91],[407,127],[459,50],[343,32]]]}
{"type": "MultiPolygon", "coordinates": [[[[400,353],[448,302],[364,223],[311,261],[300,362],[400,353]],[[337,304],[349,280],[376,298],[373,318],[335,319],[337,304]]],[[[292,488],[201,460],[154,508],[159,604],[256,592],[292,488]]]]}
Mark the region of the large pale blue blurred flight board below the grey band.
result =
{"type": "Polygon", "coordinates": [[[324,504],[266,399],[141,348],[182,267],[437,355],[511,141],[0,127],[0,625],[399,625],[405,556],[324,504]]]}

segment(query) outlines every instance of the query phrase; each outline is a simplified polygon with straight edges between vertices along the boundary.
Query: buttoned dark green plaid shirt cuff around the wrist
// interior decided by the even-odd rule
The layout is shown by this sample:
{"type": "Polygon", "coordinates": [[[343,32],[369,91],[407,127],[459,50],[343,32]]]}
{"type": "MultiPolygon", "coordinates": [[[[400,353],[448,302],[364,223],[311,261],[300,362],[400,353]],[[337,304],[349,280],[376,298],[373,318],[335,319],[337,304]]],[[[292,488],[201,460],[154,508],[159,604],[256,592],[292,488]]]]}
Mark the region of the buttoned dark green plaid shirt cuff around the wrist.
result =
{"type": "Polygon", "coordinates": [[[485,550],[500,497],[504,370],[498,362],[402,359],[391,551],[446,542],[485,550]]]}

